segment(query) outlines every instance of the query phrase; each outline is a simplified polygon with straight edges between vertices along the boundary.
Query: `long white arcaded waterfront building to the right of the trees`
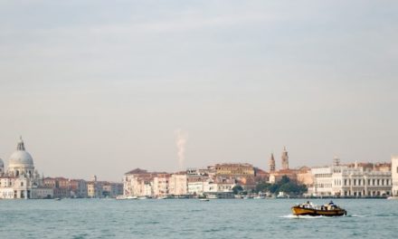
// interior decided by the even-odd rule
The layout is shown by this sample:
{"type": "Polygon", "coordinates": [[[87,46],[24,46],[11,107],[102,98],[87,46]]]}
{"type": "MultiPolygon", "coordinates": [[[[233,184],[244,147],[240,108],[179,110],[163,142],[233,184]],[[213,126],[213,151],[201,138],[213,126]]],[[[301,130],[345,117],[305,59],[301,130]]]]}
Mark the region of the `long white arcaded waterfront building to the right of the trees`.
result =
{"type": "Polygon", "coordinates": [[[313,196],[378,197],[392,193],[391,171],[369,167],[341,166],[312,168],[314,184],[308,188],[313,196]]]}

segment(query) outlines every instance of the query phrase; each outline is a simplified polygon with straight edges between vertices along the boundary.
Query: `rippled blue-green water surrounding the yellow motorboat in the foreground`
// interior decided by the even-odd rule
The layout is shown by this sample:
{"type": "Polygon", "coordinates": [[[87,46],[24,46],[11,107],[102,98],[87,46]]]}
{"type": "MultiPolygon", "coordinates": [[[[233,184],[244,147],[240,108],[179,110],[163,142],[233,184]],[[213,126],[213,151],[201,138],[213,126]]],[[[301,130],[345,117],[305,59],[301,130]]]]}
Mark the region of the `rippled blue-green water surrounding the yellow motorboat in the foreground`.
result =
{"type": "Polygon", "coordinates": [[[301,202],[0,200],[0,238],[398,238],[398,200],[334,200],[348,215],[297,218],[301,202]]]}

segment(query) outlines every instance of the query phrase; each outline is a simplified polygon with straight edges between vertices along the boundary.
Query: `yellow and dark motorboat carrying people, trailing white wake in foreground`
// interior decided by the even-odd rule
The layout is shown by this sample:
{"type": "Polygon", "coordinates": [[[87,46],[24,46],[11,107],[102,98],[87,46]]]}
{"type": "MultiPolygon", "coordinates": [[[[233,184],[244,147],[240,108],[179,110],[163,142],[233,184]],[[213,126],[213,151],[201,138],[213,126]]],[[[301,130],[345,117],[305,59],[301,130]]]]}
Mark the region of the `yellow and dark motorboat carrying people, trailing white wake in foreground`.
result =
{"type": "Polygon", "coordinates": [[[346,215],[346,210],[336,206],[332,201],[327,205],[316,206],[310,202],[292,206],[293,215],[324,215],[324,216],[340,216],[346,215]]]}

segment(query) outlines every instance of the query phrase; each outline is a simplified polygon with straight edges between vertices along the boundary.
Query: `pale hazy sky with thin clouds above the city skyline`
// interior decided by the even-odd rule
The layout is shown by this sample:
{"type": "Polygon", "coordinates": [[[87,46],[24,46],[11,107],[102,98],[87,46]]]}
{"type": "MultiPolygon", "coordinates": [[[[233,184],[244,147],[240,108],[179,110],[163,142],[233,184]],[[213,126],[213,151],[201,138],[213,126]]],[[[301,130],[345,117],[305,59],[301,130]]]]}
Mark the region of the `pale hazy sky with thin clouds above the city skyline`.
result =
{"type": "Polygon", "coordinates": [[[0,0],[0,158],[120,181],[398,154],[396,1],[0,0]]]}

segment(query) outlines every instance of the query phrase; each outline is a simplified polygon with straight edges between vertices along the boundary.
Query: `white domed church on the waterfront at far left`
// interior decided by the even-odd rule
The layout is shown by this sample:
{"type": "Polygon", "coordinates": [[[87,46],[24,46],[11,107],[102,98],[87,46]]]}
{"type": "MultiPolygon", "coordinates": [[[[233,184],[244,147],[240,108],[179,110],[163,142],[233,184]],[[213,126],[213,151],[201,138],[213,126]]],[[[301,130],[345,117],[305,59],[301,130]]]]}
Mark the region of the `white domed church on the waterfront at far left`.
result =
{"type": "Polygon", "coordinates": [[[0,159],[0,199],[51,198],[52,188],[43,187],[43,178],[34,169],[33,158],[26,151],[22,137],[8,160],[0,159]]]}

